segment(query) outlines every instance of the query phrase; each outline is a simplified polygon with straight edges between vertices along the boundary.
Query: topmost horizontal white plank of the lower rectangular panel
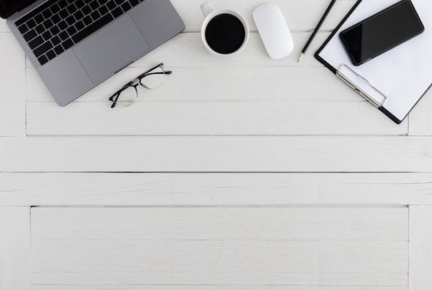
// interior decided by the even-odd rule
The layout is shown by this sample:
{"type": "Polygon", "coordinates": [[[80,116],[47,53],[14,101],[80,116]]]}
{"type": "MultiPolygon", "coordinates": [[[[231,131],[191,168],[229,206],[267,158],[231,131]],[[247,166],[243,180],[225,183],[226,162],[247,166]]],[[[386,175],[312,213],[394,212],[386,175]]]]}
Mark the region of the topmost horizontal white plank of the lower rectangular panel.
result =
{"type": "Polygon", "coordinates": [[[125,238],[408,241],[408,208],[41,207],[32,210],[32,241],[125,238]]]}

